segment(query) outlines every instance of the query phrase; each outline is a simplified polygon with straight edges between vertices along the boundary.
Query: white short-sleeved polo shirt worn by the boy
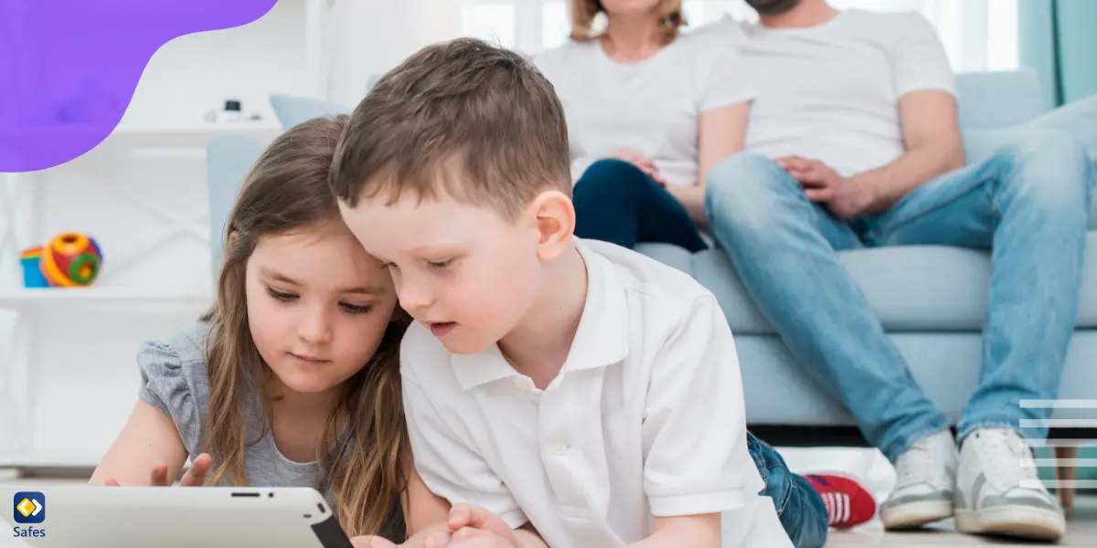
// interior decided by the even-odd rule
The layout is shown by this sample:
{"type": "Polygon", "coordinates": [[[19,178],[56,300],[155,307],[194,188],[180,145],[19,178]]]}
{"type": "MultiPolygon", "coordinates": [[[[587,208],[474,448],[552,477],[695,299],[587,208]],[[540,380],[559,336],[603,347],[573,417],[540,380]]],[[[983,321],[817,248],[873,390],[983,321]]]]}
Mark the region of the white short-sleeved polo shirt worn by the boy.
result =
{"type": "Polygon", "coordinates": [[[451,503],[553,548],[611,547],[652,516],[725,512],[724,545],[790,547],[746,445],[739,365],[715,298],[687,274],[576,239],[589,287],[559,375],[544,390],[497,346],[450,354],[429,330],[402,345],[416,467],[451,503]]]}

